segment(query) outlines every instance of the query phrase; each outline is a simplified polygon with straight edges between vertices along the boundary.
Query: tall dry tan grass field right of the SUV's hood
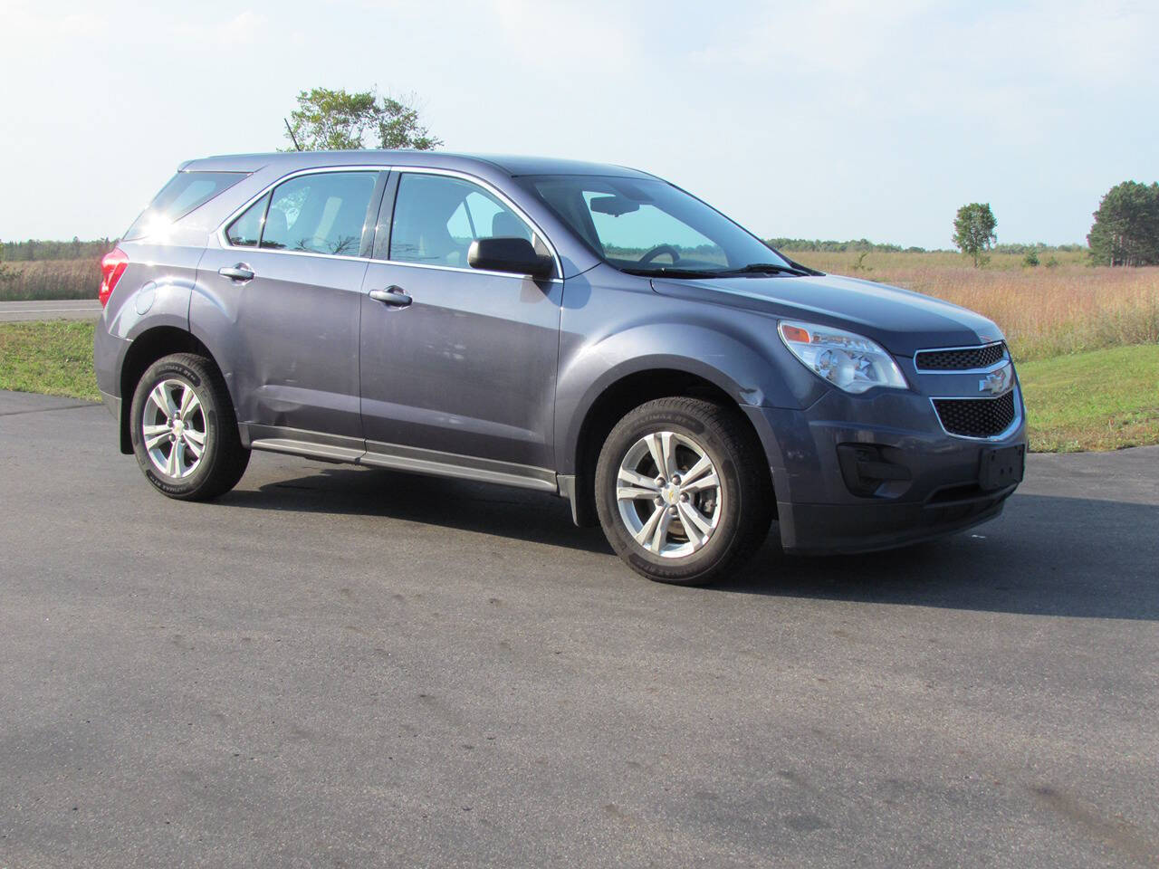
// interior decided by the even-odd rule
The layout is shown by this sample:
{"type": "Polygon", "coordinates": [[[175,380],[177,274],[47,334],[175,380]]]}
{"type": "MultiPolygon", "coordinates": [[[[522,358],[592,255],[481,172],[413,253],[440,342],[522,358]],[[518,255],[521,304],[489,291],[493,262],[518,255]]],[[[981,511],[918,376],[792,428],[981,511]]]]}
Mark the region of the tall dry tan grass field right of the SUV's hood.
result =
{"type": "Polygon", "coordinates": [[[956,254],[872,253],[854,271],[857,254],[785,253],[977,311],[1001,327],[1016,359],[1159,342],[1159,268],[1092,269],[1081,254],[1063,254],[1054,269],[1023,269],[1014,255],[1014,264],[975,269],[956,254]]]}

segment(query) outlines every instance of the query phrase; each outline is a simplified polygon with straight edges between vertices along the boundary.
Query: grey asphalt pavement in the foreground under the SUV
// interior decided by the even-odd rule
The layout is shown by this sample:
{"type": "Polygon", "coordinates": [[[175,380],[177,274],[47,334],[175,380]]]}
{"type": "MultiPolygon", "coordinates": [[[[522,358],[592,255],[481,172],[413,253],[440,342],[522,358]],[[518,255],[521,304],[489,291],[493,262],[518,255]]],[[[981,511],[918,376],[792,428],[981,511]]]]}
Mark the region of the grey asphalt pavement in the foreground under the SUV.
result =
{"type": "Polygon", "coordinates": [[[0,393],[0,866],[1156,866],[1159,448],[716,589],[562,501],[0,393]]]}

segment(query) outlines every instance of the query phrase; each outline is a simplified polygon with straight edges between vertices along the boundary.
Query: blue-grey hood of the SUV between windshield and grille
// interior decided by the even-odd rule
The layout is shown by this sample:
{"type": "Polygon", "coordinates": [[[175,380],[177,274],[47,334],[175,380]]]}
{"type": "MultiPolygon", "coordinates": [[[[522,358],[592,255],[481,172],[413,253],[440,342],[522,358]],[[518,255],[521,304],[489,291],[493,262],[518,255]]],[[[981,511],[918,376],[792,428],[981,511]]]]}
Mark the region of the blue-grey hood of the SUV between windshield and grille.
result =
{"type": "Polygon", "coordinates": [[[925,348],[987,344],[1003,337],[991,320],[967,308],[837,275],[654,279],[653,289],[661,295],[850,329],[899,356],[925,348]]]}

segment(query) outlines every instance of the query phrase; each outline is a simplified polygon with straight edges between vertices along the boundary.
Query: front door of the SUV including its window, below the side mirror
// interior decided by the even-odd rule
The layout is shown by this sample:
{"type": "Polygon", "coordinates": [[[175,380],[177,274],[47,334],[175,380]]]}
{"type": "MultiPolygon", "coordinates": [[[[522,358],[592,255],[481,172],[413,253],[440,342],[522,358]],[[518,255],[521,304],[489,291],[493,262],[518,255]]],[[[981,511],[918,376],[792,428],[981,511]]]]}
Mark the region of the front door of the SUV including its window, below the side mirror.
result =
{"type": "Polygon", "coordinates": [[[563,282],[467,263],[479,238],[549,248],[498,190],[450,173],[392,175],[382,210],[362,298],[365,461],[554,489],[563,282]],[[392,287],[409,304],[371,295],[392,287]]]}

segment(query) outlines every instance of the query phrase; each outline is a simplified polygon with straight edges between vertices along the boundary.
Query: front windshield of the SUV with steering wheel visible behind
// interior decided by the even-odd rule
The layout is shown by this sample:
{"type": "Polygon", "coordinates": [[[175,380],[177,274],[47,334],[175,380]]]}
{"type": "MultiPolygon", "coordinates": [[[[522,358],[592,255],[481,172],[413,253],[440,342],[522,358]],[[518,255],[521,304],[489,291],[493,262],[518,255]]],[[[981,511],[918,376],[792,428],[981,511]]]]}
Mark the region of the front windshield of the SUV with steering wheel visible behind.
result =
{"type": "Polygon", "coordinates": [[[802,273],[719,211],[665,181],[553,175],[526,183],[592,250],[633,275],[802,273]]]}

